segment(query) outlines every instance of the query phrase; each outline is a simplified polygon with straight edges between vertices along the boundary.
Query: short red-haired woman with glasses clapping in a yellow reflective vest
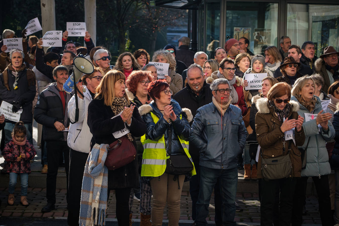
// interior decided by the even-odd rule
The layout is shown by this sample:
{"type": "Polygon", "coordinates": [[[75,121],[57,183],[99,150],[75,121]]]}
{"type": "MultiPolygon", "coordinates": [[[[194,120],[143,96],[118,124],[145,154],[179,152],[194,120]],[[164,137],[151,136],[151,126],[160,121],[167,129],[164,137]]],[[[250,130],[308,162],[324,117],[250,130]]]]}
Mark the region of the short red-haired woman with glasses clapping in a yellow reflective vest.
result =
{"type": "Polygon", "coordinates": [[[181,109],[178,102],[171,98],[172,90],[167,82],[153,81],[147,90],[154,101],[139,107],[147,126],[147,140],[142,139],[144,152],[141,176],[151,185],[153,192],[152,225],[162,225],[166,203],[168,225],[178,225],[182,185],[185,178],[196,174],[188,153],[188,142],[185,141],[191,135],[188,122],[192,121],[192,113],[187,108],[181,109]],[[169,168],[178,163],[173,156],[188,160],[191,169],[182,174],[173,173],[169,168]]]}

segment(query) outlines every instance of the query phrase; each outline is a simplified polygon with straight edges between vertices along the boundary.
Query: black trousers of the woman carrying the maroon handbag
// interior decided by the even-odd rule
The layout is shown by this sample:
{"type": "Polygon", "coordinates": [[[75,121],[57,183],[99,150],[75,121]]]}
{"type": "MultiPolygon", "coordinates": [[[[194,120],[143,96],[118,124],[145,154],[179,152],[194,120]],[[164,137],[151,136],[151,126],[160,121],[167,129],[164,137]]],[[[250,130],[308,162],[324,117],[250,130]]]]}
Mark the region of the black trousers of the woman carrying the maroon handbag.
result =
{"type": "MultiPolygon", "coordinates": [[[[107,190],[107,201],[110,190],[107,190]]],[[[115,189],[116,216],[119,226],[129,226],[129,194],[131,188],[115,189]]]]}

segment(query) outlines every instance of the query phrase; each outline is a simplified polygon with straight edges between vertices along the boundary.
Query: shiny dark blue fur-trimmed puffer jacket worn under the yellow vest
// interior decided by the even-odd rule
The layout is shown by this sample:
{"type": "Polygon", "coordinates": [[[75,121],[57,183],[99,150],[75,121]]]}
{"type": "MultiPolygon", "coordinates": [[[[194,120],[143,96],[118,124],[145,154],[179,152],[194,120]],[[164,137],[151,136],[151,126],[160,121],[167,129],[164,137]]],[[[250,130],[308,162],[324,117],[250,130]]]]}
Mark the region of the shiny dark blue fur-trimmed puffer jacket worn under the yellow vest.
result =
{"type": "Polygon", "coordinates": [[[171,105],[173,106],[173,110],[177,115],[177,119],[175,121],[171,121],[169,124],[161,114],[160,110],[158,109],[156,103],[152,101],[150,104],[142,105],[139,107],[140,115],[142,119],[146,123],[146,139],[151,139],[153,141],[158,141],[161,139],[162,135],[165,135],[165,148],[168,154],[179,154],[185,153],[184,149],[182,148],[178,136],[186,140],[191,135],[191,126],[187,121],[187,114],[188,117],[192,121],[192,114],[191,111],[187,108],[181,109],[178,102],[171,99],[171,105]],[[154,115],[159,118],[157,123],[154,123],[151,111],[154,115]],[[180,114],[182,118],[180,120],[180,114]],[[169,133],[171,133],[171,150],[168,150],[168,142],[169,142],[169,133]],[[170,152],[170,153],[169,153],[170,152]]]}

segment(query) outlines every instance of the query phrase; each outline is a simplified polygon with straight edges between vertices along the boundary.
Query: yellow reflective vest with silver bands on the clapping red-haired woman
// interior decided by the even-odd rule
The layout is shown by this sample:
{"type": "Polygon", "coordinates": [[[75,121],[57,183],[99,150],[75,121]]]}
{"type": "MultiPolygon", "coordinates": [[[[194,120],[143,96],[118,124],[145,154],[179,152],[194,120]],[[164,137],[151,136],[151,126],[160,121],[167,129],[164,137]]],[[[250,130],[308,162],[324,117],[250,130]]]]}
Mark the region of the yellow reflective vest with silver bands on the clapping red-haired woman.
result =
{"type": "MultiPolygon", "coordinates": [[[[159,121],[159,118],[150,112],[154,123],[159,121]]],[[[180,119],[181,119],[180,115],[180,119]]],[[[187,157],[191,160],[193,165],[193,170],[191,171],[192,176],[197,174],[195,171],[195,167],[193,164],[193,160],[191,158],[190,153],[188,153],[188,141],[182,140],[179,136],[179,141],[181,146],[183,147],[187,157]]],[[[160,140],[153,141],[150,139],[146,140],[146,136],[143,135],[141,137],[141,143],[144,147],[144,152],[142,154],[142,166],[141,166],[141,177],[159,177],[161,176],[166,169],[166,159],[169,156],[166,156],[165,149],[165,136],[162,135],[160,140]]]]}

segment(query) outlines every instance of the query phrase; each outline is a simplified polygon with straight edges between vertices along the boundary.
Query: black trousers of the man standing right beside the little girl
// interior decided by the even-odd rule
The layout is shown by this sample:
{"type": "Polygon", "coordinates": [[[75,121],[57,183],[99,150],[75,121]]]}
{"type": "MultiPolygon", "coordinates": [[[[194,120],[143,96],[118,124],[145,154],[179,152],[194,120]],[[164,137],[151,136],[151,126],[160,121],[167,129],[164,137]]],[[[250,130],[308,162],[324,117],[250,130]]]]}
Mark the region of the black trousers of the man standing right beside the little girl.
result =
{"type": "Polygon", "coordinates": [[[47,178],[46,178],[46,198],[47,203],[55,204],[55,189],[57,184],[57,175],[59,168],[60,155],[63,153],[65,158],[67,194],[68,203],[68,172],[69,172],[69,147],[66,141],[46,141],[47,148],[47,178]]]}

